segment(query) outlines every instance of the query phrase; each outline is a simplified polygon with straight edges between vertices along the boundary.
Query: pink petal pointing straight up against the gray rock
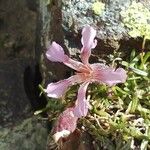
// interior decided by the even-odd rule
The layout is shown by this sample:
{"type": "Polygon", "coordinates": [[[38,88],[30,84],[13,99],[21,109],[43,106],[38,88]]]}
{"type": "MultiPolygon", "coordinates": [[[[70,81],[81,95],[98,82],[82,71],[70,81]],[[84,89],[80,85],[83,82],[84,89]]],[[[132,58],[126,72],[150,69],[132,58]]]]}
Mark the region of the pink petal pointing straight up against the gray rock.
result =
{"type": "Polygon", "coordinates": [[[81,60],[84,64],[88,64],[89,57],[91,55],[91,49],[97,45],[97,40],[94,40],[96,36],[96,30],[90,26],[85,26],[82,30],[81,43],[83,45],[81,49],[81,60]]]}

